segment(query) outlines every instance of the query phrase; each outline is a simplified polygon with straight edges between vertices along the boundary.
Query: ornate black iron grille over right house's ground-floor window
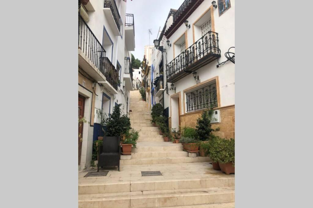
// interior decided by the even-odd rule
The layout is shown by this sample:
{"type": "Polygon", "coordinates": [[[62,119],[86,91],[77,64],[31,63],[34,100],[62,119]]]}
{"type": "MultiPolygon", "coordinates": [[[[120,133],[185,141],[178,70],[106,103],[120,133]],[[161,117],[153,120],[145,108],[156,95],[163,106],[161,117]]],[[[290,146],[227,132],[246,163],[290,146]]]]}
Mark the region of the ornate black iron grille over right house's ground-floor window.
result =
{"type": "Polygon", "coordinates": [[[186,93],[187,112],[218,107],[216,83],[186,93]]]}

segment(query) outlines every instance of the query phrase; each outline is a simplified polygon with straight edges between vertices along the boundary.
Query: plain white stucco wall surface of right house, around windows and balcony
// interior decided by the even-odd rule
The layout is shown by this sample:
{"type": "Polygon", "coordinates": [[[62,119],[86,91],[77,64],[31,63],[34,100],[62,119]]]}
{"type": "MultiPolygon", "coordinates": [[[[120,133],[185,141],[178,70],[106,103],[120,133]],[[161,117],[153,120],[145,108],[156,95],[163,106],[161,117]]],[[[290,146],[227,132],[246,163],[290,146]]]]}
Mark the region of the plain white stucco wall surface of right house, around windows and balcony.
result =
{"type": "MultiPolygon", "coordinates": [[[[188,24],[191,25],[191,28],[186,28],[185,24],[182,24],[177,31],[169,38],[172,47],[167,47],[165,42],[164,46],[167,49],[167,63],[172,61],[175,57],[173,56],[173,43],[187,30],[187,47],[193,44],[193,30],[192,24],[212,5],[211,0],[204,0],[202,4],[188,17],[188,24]]],[[[235,46],[235,0],[231,0],[231,8],[224,12],[220,17],[218,14],[218,8],[213,8],[214,12],[214,23],[215,23],[215,32],[218,33],[219,39],[219,48],[221,50],[221,58],[219,62],[226,60],[224,53],[232,46],[235,46]]],[[[195,31],[195,37],[201,36],[195,31]]],[[[195,41],[198,39],[196,38],[195,41]]],[[[234,51],[234,49],[232,49],[234,51]]],[[[175,56],[178,56],[180,51],[175,50],[175,56]]],[[[164,59],[166,60],[166,59],[164,59]]],[[[196,70],[197,75],[200,80],[203,82],[205,80],[211,79],[215,76],[219,77],[219,89],[220,89],[220,100],[221,107],[235,104],[235,65],[228,61],[225,65],[216,67],[218,64],[217,60],[201,67],[196,70]],[[227,87],[226,87],[227,85],[227,87]]],[[[181,92],[181,98],[183,99],[183,90],[187,89],[193,85],[196,85],[196,81],[193,78],[193,75],[187,75],[186,77],[178,80],[174,83],[176,87],[176,92],[181,92]]],[[[170,88],[170,84],[168,84],[170,88]]],[[[174,91],[169,90],[169,94],[174,94],[174,91]]],[[[169,100],[169,99],[165,99],[169,100]]],[[[181,108],[185,105],[186,100],[182,100],[181,108]]],[[[169,103],[165,104],[165,107],[169,106],[169,103]]],[[[181,111],[184,114],[183,110],[181,111]]]]}

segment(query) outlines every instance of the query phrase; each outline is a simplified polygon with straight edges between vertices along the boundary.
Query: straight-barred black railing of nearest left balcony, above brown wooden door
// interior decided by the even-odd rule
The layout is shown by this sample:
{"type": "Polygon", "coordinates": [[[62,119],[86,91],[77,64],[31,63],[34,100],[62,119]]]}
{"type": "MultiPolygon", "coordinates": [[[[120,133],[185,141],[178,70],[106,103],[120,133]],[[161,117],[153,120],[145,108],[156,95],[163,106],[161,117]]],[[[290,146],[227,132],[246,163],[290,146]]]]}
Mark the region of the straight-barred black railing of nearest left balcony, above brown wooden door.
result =
{"type": "Polygon", "coordinates": [[[105,57],[105,50],[80,15],[78,16],[78,47],[103,74],[100,59],[105,57]]]}

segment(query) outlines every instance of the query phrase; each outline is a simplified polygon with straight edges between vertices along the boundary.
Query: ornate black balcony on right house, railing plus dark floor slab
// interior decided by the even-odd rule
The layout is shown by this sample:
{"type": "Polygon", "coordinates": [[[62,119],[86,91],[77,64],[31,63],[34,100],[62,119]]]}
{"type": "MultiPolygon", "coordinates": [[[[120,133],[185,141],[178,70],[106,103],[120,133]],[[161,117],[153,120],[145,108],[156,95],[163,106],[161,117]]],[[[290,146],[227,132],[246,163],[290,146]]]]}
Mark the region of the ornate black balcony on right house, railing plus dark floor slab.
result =
{"type": "Polygon", "coordinates": [[[218,57],[218,33],[209,31],[166,65],[167,82],[176,82],[218,57]]]}

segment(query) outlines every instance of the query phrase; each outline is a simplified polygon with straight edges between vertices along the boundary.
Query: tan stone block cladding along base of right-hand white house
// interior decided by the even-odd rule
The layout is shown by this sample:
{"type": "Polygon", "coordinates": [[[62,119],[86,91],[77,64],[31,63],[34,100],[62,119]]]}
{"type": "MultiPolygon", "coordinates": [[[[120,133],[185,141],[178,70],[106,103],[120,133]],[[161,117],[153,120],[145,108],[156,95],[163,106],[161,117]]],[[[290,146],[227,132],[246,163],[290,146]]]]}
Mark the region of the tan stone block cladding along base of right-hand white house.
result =
{"type": "MultiPolygon", "coordinates": [[[[220,110],[221,122],[212,124],[212,128],[220,128],[219,132],[214,132],[214,134],[222,138],[235,138],[235,105],[216,109],[220,110]]],[[[181,127],[187,126],[195,128],[197,125],[197,119],[201,117],[202,112],[203,110],[181,115],[181,127]]],[[[170,119],[169,123],[171,123],[170,119]]],[[[169,128],[171,128],[171,126],[169,126],[169,128]]]]}

